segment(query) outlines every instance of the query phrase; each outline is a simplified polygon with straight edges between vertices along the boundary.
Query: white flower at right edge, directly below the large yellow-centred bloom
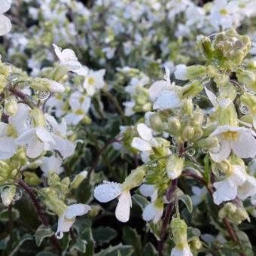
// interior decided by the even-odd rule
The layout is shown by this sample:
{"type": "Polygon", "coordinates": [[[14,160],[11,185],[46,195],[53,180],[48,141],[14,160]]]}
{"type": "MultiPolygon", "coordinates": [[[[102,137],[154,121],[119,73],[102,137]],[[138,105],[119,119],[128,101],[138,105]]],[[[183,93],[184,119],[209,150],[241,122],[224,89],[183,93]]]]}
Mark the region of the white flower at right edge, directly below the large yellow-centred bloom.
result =
{"type": "Polygon", "coordinates": [[[244,166],[234,165],[230,174],[223,181],[215,182],[213,194],[215,204],[234,200],[237,197],[245,200],[256,194],[256,179],[245,172],[244,166]]]}

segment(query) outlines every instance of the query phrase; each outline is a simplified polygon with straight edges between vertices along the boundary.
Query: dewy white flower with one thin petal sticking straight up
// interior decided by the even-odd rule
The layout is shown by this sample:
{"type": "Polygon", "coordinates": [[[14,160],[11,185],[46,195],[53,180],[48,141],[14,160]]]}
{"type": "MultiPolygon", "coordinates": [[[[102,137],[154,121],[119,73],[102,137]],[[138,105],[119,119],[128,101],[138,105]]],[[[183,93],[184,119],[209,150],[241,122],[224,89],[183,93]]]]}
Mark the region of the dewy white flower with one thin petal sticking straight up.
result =
{"type": "Polygon", "coordinates": [[[166,81],[160,80],[154,82],[148,89],[149,96],[154,102],[154,109],[177,108],[180,105],[181,98],[178,93],[178,87],[169,80],[169,69],[166,69],[166,81]]]}

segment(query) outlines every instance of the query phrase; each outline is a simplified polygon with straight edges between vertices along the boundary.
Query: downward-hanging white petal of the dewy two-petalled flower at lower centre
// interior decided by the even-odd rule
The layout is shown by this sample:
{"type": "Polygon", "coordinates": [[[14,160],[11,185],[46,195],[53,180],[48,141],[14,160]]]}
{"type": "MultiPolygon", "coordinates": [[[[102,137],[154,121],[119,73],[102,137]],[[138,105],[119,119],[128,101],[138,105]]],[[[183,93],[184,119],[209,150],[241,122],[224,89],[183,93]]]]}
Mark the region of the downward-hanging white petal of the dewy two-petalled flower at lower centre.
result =
{"type": "Polygon", "coordinates": [[[132,198],[130,191],[123,191],[118,198],[117,208],[115,209],[115,216],[118,221],[127,222],[130,218],[130,208],[132,207],[132,198]]]}

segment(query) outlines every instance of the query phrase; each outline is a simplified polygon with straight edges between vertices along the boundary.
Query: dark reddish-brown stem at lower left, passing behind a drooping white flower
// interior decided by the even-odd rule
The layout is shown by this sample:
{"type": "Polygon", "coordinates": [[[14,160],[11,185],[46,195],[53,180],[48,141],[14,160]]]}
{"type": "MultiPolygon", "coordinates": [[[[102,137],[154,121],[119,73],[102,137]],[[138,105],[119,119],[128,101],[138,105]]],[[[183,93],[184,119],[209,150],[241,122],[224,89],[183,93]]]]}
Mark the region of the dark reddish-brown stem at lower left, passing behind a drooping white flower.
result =
{"type": "MultiPolygon", "coordinates": [[[[46,215],[44,215],[44,211],[40,206],[40,203],[35,196],[34,191],[32,190],[31,187],[29,187],[21,178],[18,180],[18,184],[20,187],[22,187],[26,192],[29,194],[30,199],[32,200],[32,203],[35,206],[36,211],[38,212],[38,216],[41,219],[41,223],[44,224],[45,226],[49,226],[49,222],[47,220],[46,215]]],[[[55,236],[50,237],[50,241],[52,242],[53,246],[56,248],[56,250],[59,252],[59,255],[62,254],[62,249],[59,246],[58,241],[56,240],[55,236]]]]}

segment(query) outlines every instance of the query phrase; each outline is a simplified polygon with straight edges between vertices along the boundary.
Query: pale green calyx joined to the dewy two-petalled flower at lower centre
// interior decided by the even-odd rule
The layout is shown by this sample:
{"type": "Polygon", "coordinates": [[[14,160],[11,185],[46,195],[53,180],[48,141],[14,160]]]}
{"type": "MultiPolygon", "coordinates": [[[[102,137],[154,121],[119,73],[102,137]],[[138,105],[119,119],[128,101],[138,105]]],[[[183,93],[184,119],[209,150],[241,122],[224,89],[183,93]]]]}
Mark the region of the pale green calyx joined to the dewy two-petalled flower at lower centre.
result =
{"type": "Polygon", "coordinates": [[[138,187],[140,184],[142,184],[144,177],[144,167],[140,166],[137,169],[134,169],[123,181],[123,190],[131,190],[133,187],[138,187]]]}

